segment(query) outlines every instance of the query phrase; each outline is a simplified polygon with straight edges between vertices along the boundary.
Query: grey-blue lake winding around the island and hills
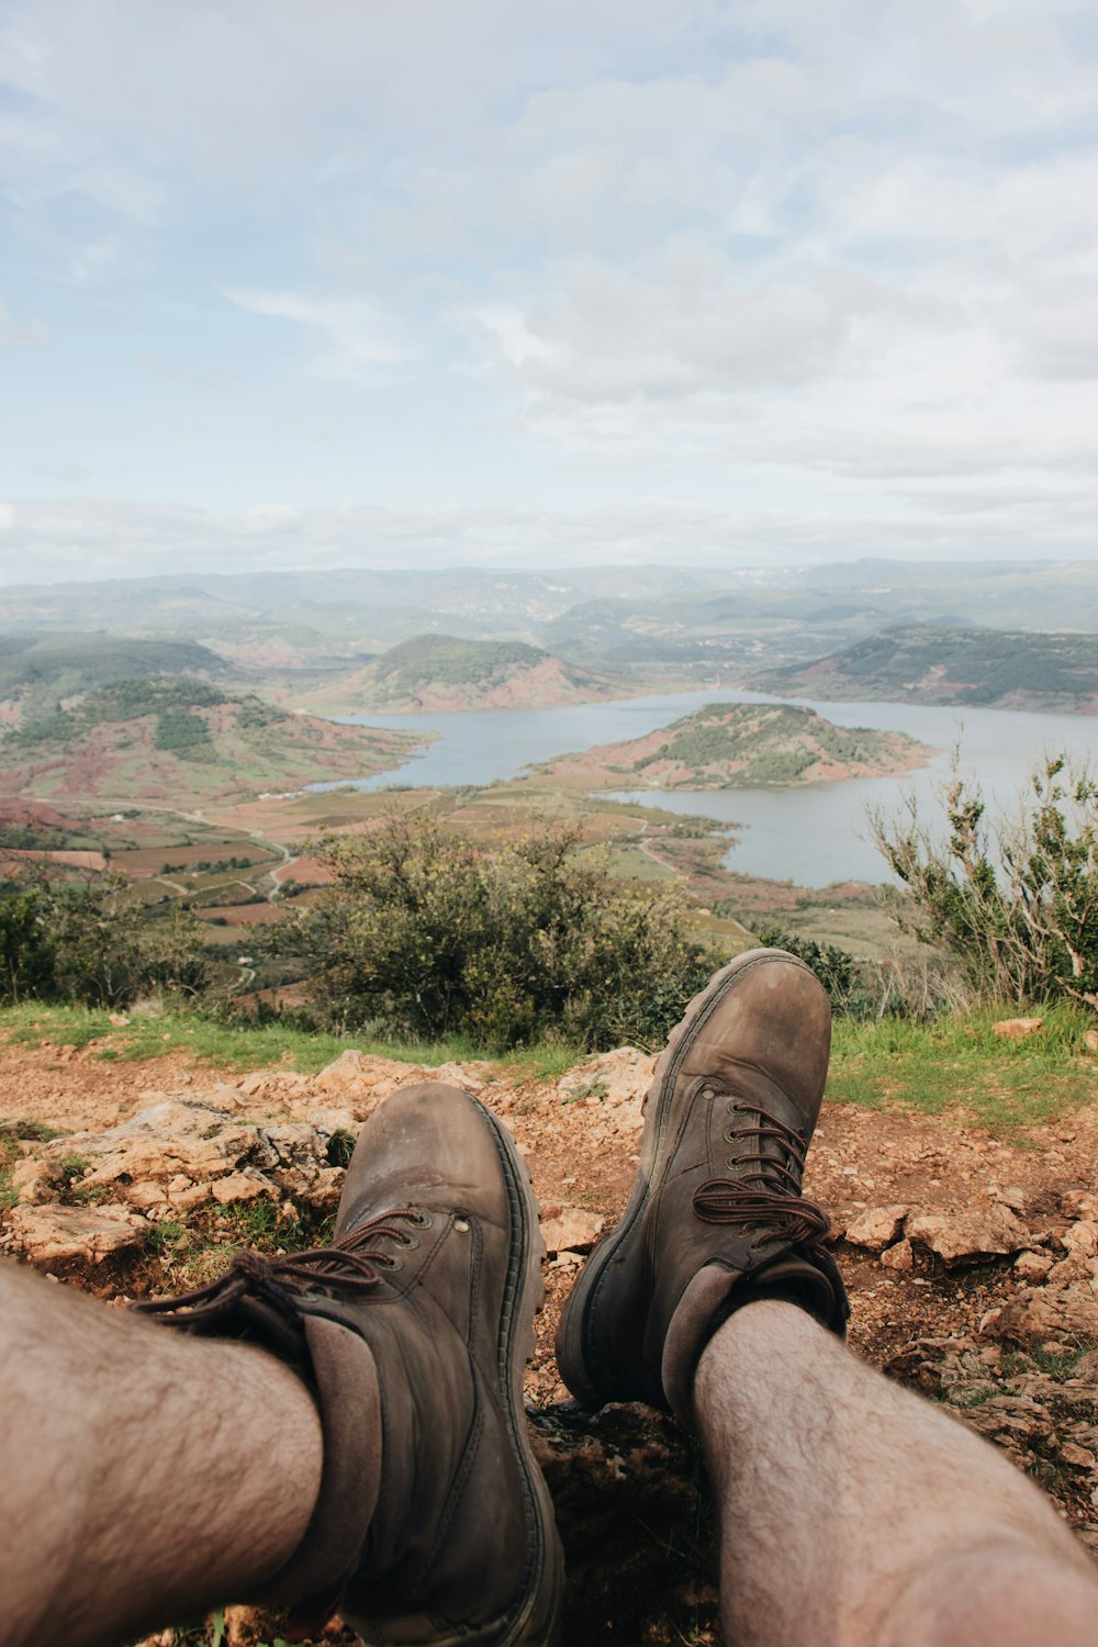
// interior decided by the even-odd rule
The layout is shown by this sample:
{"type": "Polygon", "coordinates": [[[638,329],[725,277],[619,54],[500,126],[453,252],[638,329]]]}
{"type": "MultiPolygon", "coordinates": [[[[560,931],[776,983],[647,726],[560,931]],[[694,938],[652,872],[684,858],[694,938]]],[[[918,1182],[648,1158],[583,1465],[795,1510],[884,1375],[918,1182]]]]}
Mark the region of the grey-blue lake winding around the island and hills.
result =
{"type": "Polygon", "coordinates": [[[1098,753],[1096,716],[922,703],[828,703],[818,698],[767,698],[723,687],[548,710],[341,718],[354,725],[438,735],[421,756],[357,786],[384,789],[387,784],[491,784],[494,779],[515,777],[523,766],[548,761],[565,751],[640,738],[703,703],[770,702],[803,703],[836,726],[905,731],[942,753],[928,768],[902,777],[856,777],[841,784],[790,789],[632,789],[621,791],[619,797],[742,825],[726,860],[729,870],[793,879],[805,886],[844,879],[882,881],[887,876],[881,855],[868,838],[866,807],[881,807],[886,815],[892,815],[907,796],[914,796],[930,817],[932,792],[947,776],[950,749],[958,740],[961,771],[978,774],[984,794],[1006,809],[1016,802],[1027,774],[1047,751],[1065,751],[1090,761],[1098,753]]]}

